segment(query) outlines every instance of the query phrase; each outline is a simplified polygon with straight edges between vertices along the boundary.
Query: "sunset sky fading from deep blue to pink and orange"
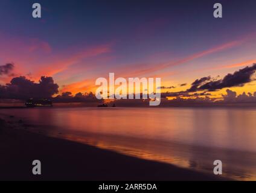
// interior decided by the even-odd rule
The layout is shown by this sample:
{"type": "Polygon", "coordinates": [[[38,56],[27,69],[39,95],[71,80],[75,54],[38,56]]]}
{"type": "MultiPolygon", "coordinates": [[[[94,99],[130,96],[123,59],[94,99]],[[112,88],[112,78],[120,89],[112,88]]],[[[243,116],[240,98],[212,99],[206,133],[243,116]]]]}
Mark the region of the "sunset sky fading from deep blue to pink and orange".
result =
{"type": "MultiPolygon", "coordinates": [[[[108,77],[161,77],[162,92],[180,92],[202,77],[256,63],[256,1],[19,1],[0,2],[0,84],[25,76],[53,77],[59,92],[94,92],[108,77]],[[42,18],[32,17],[39,2],[42,18]],[[223,17],[213,17],[220,2],[223,17]]],[[[227,87],[211,91],[221,97],[227,87]]],[[[252,80],[232,86],[254,93],[252,80]]],[[[201,90],[202,91],[202,90],[201,90]]]]}

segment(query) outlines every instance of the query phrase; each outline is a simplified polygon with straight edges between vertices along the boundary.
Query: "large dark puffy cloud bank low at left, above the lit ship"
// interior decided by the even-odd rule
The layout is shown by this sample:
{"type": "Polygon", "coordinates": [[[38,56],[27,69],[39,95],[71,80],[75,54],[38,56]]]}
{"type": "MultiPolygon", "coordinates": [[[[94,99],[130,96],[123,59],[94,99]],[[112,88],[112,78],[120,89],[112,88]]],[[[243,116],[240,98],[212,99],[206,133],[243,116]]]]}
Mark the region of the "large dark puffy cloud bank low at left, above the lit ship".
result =
{"type": "Polygon", "coordinates": [[[39,83],[34,83],[26,77],[16,77],[9,84],[0,86],[0,98],[18,100],[51,98],[51,96],[58,93],[58,87],[52,77],[41,77],[39,83]]]}

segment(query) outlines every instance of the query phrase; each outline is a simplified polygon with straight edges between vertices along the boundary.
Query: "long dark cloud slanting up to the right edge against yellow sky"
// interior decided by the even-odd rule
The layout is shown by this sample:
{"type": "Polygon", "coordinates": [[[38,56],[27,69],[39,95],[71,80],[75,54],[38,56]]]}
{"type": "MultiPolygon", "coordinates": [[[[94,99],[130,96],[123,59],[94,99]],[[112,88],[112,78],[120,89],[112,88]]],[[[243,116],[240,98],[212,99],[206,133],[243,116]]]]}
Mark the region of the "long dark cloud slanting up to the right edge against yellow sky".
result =
{"type": "Polygon", "coordinates": [[[214,80],[211,77],[197,79],[191,84],[187,92],[196,92],[198,90],[215,91],[226,87],[243,86],[252,81],[251,77],[256,70],[256,64],[246,66],[233,74],[227,74],[223,79],[214,80]]]}

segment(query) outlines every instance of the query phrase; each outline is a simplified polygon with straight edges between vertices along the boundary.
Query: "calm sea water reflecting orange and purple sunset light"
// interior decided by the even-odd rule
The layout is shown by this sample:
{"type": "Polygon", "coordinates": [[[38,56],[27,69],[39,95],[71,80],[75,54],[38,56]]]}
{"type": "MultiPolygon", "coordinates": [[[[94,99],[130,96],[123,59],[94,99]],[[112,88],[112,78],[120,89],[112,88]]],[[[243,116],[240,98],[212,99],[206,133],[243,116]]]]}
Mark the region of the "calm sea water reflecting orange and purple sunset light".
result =
{"type": "MultiPolygon", "coordinates": [[[[256,179],[256,109],[34,108],[5,109],[45,134],[143,159],[256,179]]],[[[34,129],[36,130],[36,129],[34,129]]]]}

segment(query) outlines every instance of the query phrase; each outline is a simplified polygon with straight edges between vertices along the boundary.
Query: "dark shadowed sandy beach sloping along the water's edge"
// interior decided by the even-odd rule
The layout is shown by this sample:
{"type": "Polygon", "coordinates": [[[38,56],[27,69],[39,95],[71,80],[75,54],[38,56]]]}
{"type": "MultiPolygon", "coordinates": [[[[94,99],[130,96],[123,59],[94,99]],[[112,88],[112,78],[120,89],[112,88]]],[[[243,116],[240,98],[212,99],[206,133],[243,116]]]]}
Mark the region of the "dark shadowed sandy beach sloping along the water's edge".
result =
{"type": "Polygon", "coordinates": [[[1,120],[0,180],[223,180],[211,174],[124,156],[90,145],[31,133],[1,120]],[[32,174],[33,160],[42,175],[32,174]]]}

